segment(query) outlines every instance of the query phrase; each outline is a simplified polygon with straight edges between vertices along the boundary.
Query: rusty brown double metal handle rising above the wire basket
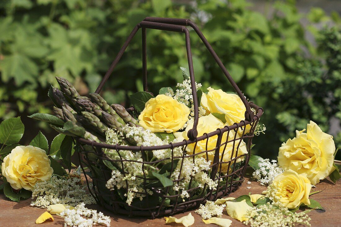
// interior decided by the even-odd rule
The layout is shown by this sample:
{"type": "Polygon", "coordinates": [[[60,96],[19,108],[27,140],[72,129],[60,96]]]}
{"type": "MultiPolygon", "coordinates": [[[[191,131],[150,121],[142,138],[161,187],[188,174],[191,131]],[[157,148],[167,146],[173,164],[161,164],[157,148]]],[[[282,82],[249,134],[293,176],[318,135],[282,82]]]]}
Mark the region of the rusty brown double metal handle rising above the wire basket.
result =
{"type": "Polygon", "coordinates": [[[239,87],[237,86],[236,82],[233,80],[231,75],[226,70],[224,64],[219,59],[216,52],[213,50],[211,45],[208,43],[207,39],[203,35],[203,33],[199,30],[199,28],[189,19],[178,19],[178,18],[160,18],[160,17],[146,17],[143,21],[137,24],[137,26],[133,29],[133,31],[128,36],[127,40],[123,44],[122,48],[120,49],[119,53],[117,54],[115,60],[110,65],[108,71],[106,72],[105,76],[103,77],[101,83],[99,84],[95,93],[99,93],[102,90],[104,83],[108,80],[109,76],[112,74],[114,67],[121,59],[125,49],[127,49],[130,41],[135,36],[136,32],[139,28],[142,28],[142,69],[143,69],[143,88],[144,91],[148,92],[148,84],[147,84],[147,48],[146,48],[146,28],[148,29],[158,29],[158,30],[166,30],[166,31],[174,31],[174,32],[182,32],[185,33],[186,38],[186,50],[187,50],[187,58],[188,58],[188,66],[190,72],[190,80],[191,80],[191,87],[192,87],[192,96],[193,96],[193,104],[194,104],[194,123],[193,128],[189,130],[188,137],[190,140],[195,140],[198,135],[197,132],[197,125],[198,125],[198,98],[197,92],[195,88],[195,79],[194,79],[194,70],[193,70],[193,61],[192,61],[192,52],[191,52],[191,42],[190,42],[190,34],[186,26],[190,26],[194,29],[197,35],[201,38],[203,43],[205,44],[208,51],[212,54],[214,60],[216,60],[219,67],[222,69],[223,73],[225,74],[228,81],[231,83],[232,87],[242,100],[246,112],[245,112],[245,119],[251,121],[254,117],[254,113],[250,108],[249,102],[246,100],[242,92],[240,91],[239,87]]]}

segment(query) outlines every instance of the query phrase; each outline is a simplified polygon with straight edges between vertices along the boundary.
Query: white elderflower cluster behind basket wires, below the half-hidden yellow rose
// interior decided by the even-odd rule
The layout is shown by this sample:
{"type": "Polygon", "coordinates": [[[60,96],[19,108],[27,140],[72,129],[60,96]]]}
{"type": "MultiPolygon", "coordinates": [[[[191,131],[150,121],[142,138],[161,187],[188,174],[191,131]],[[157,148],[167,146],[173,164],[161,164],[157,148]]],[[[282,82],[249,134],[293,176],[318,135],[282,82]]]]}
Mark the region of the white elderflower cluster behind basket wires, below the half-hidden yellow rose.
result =
{"type": "Polygon", "coordinates": [[[181,160],[179,161],[177,167],[172,173],[173,179],[182,179],[174,184],[173,189],[177,192],[181,192],[181,198],[188,198],[189,193],[187,192],[189,182],[191,177],[198,183],[198,187],[204,188],[204,185],[207,184],[209,189],[216,188],[217,183],[214,182],[204,171],[208,171],[210,169],[211,161],[206,161],[206,159],[202,157],[195,157],[194,162],[192,158],[184,158],[182,169],[181,168],[181,160]]]}

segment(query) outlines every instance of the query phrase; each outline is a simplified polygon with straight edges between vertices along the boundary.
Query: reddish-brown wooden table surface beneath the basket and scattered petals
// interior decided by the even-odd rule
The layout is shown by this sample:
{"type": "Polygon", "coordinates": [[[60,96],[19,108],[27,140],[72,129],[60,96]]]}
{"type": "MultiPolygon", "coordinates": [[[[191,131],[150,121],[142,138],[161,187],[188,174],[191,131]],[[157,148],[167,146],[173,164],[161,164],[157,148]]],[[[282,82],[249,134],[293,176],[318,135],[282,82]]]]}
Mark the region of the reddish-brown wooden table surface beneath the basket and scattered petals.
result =
{"type": "MultiPolygon", "coordinates": [[[[249,180],[250,175],[246,176],[245,182],[241,185],[241,187],[230,196],[238,197],[240,195],[249,194],[260,194],[265,190],[264,186],[261,186],[255,181],[252,181],[251,184],[247,184],[246,182],[249,180]],[[247,189],[246,187],[250,186],[251,189],[247,189]]],[[[314,194],[310,196],[320,202],[320,204],[325,208],[326,212],[318,213],[317,211],[311,211],[309,216],[311,217],[311,226],[313,227],[340,227],[341,226],[341,180],[339,180],[336,184],[328,179],[323,180],[321,183],[317,184],[316,188],[312,190],[323,190],[320,193],[314,194]]],[[[35,220],[39,217],[46,209],[41,209],[37,207],[30,206],[31,199],[20,201],[19,203],[13,202],[5,198],[3,194],[0,194],[0,226],[2,227],[26,227],[26,226],[35,226],[35,220]]],[[[127,217],[122,215],[114,215],[109,211],[101,208],[98,205],[91,205],[89,208],[97,209],[98,211],[102,211],[105,215],[109,215],[112,218],[111,226],[182,226],[181,224],[167,224],[165,225],[165,220],[163,218],[157,218],[154,220],[149,220],[141,217],[127,217]]],[[[200,215],[194,213],[194,211],[190,211],[195,218],[195,223],[192,225],[195,226],[205,226],[205,227],[214,227],[217,225],[213,224],[204,224],[202,222],[202,218],[200,215]]],[[[176,217],[182,217],[187,215],[189,212],[184,214],[174,215],[176,217]]],[[[40,224],[41,227],[48,226],[63,226],[63,218],[53,215],[55,220],[54,222],[46,221],[43,224],[40,224]]],[[[232,220],[232,227],[241,227],[244,226],[241,222],[234,220],[229,217],[226,213],[226,210],[223,212],[223,218],[229,218],[232,220]]],[[[38,225],[37,225],[38,226],[38,225]]],[[[98,226],[98,225],[97,225],[98,226]]]]}

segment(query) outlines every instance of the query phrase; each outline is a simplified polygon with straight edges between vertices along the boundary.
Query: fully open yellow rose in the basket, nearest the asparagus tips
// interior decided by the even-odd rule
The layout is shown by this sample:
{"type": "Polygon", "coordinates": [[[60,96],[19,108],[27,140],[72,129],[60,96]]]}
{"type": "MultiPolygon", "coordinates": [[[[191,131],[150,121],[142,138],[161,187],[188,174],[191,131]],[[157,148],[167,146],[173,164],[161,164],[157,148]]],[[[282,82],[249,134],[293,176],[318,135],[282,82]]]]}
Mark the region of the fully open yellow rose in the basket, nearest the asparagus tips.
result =
{"type": "Polygon", "coordinates": [[[158,95],[146,102],[139,124],[151,132],[176,132],[188,121],[190,109],[172,97],[158,95]]]}

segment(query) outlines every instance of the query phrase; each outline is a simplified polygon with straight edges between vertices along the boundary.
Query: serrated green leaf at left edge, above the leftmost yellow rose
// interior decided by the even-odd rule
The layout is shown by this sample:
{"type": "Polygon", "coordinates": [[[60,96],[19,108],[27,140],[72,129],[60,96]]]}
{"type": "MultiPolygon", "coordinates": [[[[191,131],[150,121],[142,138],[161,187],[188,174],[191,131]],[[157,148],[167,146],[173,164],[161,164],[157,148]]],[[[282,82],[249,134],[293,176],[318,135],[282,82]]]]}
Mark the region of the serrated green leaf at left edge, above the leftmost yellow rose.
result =
{"type": "Polygon", "coordinates": [[[0,143],[11,145],[19,143],[24,135],[25,126],[20,117],[9,118],[0,124],[0,143]]]}

